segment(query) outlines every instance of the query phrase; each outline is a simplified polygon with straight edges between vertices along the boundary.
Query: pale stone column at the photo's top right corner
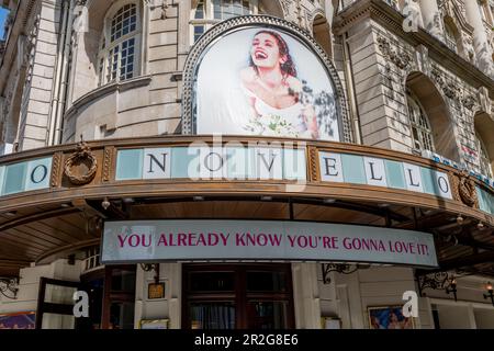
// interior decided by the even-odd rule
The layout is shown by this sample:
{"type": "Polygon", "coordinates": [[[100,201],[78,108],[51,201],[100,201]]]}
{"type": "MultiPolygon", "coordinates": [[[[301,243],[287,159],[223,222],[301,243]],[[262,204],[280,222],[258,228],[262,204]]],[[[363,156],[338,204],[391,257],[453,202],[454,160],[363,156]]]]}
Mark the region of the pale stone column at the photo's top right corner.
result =
{"type": "Polygon", "coordinates": [[[473,46],[479,68],[487,76],[494,77],[492,47],[482,21],[482,14],[476,0],[464,1],[467,20],[473,26],[473,46]]]}

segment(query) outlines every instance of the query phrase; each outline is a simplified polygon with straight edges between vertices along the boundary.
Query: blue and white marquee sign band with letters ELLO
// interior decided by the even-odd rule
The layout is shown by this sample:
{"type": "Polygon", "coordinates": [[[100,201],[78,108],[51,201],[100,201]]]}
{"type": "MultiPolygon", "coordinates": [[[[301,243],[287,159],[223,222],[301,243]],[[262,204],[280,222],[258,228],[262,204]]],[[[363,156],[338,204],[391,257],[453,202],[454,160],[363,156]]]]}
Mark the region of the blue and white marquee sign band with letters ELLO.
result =
{"type": "Polygon", "coordinates": [[[319,152],[321,180],[427,193],[452,200],[448,174],[417,165],[358,155],[319,152]]]}

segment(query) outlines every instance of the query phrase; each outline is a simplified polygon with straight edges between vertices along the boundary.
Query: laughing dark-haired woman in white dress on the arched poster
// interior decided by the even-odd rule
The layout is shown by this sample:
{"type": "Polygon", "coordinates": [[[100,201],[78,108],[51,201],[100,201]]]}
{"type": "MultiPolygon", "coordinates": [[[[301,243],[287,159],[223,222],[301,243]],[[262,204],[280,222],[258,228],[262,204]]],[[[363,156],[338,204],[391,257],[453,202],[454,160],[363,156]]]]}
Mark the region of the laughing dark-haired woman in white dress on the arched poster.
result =
{"type": "Polygon", "coordinates": [[[319,137],[315,109],[280,34],[263,30],[254,36],[250,66],[240,71],[240,79],[254,112],[245,129],[258,135],[319,137]]]}

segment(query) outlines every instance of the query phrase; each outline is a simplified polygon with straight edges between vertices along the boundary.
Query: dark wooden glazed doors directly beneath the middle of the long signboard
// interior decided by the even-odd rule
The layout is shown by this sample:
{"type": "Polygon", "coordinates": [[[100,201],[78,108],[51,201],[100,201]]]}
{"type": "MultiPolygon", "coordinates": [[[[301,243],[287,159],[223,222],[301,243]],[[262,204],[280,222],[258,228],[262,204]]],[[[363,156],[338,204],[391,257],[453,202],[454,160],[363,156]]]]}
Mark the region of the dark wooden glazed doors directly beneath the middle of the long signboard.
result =
{"type": "Polygon", "coordinates": [[[184,329],[294,327],[290,264],[183,265],[184,329]]]}

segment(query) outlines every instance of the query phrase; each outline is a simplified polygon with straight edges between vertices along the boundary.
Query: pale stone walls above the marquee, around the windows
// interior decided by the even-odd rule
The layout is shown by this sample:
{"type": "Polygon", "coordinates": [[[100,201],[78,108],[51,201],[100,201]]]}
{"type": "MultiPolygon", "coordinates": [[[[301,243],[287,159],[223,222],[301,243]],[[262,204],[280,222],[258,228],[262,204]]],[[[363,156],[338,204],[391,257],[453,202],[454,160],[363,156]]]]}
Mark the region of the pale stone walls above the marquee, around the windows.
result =
{"type": "MultiPolygon", "coordinates": [[[[489,152],[494,152],[484,127],[492,115],[492,4],[382,2],[260,1],[246,13],[284,18],[314,35],[344,82],[353,141],[420,151],[408,118],[412,93],[424,100],[433,151],[480,171],[485,154],[480,145],[491,163],[489,152]],[[404,30],[407,21],[412,32],[404,30]]],[[[3,54],[3,143],[20,151],[80,136],[90,140],[180,133],[181,70],[194,29],[203,31],[218,21],[209,13],[211,3],[202,4],[206,18],[199,20],[197,4],[189,1],[136,4],[132,78],[111,82],[103,77],[108,66],[101,60],[108,60],[102,57],[108,52],[101,45],[108,13],[116,3],[10,5],[11,18],[19,11],[23,21],[10,20],[10,45],[3,54]]]]}

